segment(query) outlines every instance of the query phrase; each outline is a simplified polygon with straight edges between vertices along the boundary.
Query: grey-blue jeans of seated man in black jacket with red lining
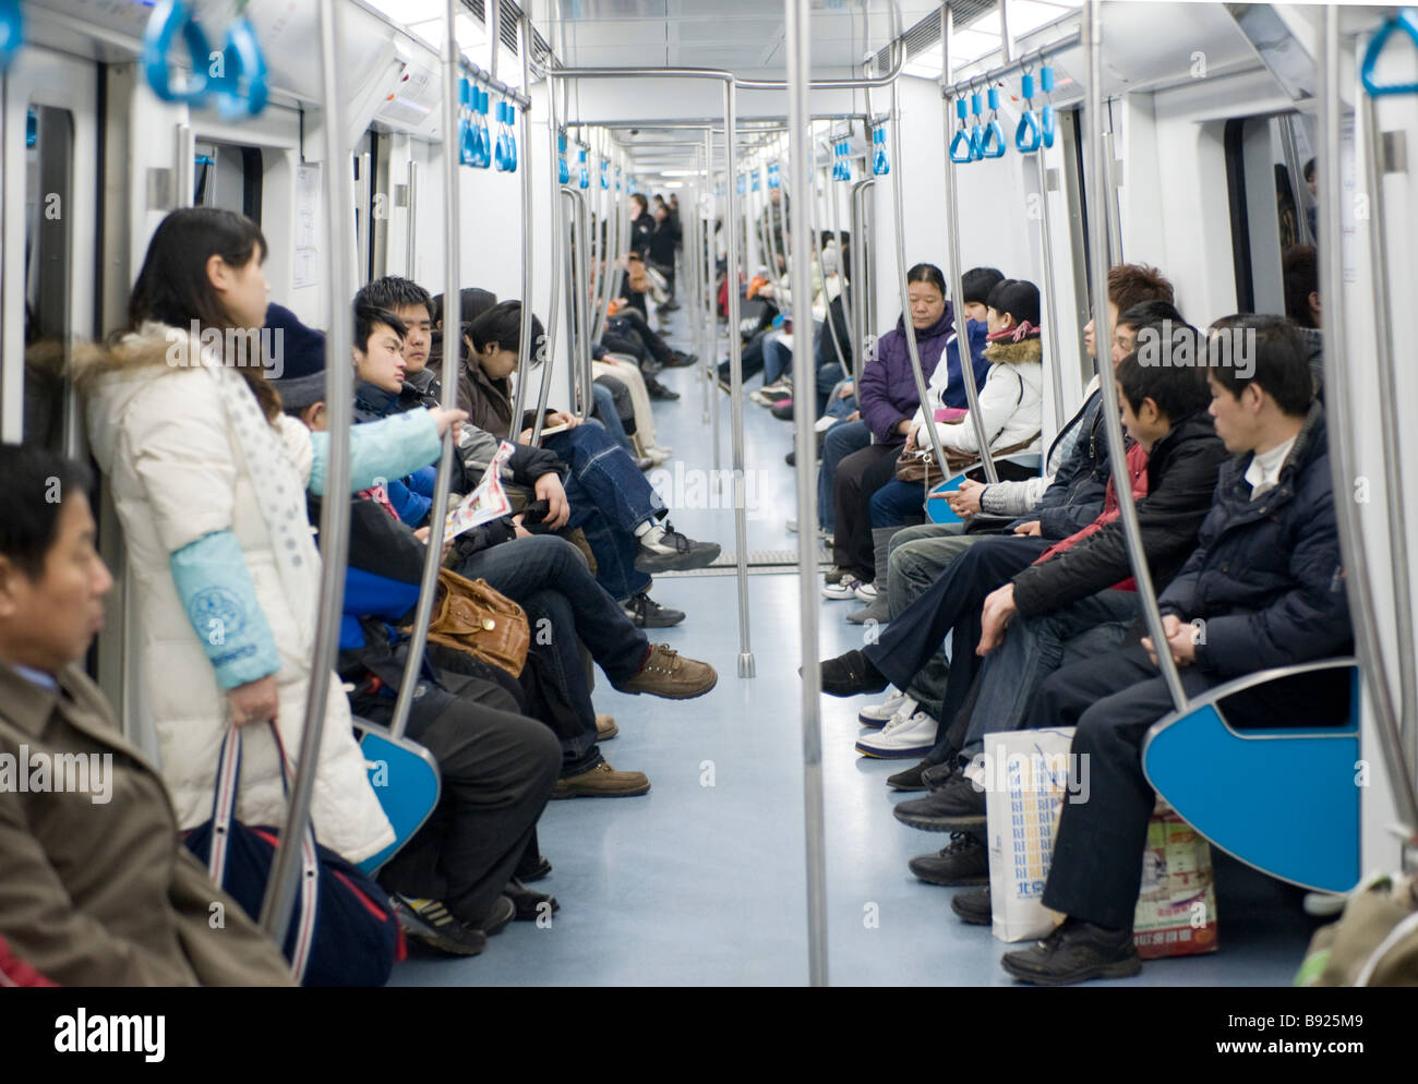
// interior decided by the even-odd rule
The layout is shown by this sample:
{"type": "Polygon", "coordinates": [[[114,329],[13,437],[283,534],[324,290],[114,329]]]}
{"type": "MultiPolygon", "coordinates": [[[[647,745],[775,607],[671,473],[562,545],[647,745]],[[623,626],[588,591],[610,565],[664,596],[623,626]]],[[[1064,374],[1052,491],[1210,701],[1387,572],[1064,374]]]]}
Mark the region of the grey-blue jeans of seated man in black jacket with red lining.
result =
{"type": "Polygon", "coordinates": [[[1004,643],[980,666],[966,750],[974,751],[986,734],[1022,727],[1045,677],[1065,662],[1117,649],[1139,612],[1136,591],[1099,591],[1052,614],[1010,622],[1004,643]]]}

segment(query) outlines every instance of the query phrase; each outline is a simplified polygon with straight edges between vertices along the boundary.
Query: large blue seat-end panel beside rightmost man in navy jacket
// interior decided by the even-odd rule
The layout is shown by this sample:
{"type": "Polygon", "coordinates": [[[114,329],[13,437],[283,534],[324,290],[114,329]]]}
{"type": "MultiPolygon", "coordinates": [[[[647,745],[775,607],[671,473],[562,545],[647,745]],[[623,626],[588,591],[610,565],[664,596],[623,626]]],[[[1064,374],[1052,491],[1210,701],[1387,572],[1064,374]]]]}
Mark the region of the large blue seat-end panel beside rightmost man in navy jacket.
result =
{"type": "Polygon", "coordinates": [[[1143,741],[1143,772],[1183,819],[1228,854],[1312,891],[1358,881],[1358,663],[1326,659],[1217,686],[1143,741]],[[1280,679],[1347,669],[1349,718],[1239,730],[1219,701],[1280,679]]]}

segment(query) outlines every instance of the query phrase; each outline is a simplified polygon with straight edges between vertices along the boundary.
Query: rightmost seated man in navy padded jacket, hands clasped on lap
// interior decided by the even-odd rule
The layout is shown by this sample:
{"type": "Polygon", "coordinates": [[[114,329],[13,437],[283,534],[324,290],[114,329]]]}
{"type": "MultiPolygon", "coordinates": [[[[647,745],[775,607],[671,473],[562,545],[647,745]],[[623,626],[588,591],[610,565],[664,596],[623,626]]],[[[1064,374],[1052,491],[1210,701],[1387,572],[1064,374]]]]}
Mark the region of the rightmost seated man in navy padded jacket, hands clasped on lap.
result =
{"type": "MultiPolygon", "coordinates": [[[[1166,645],[1141,645],[1055,673],[1029,726],[1076,723],[1072,752],[1086,757],[1090,801],[1065,803],[1044,904],[1068,918],[1049,937],[1004,956],[1025,982],[1066,983],[1134,975],[1132,924],[1154,794],[1139,751],[1173,710],[1157,648],[1195,696],[1258,667],[1351,650],[1330,483],[1324,415],[1312,401],[1305,346],[1275,316],[1232,322],[1256,336],[1254,367],[1211,358],[1211,415],[1236,455],[1217,483],[1200,543],[1161,594],[1166,645]]],[[[1286,723],[1347,713],[1347,676],[1307,676],[1228,701],[1232,721],[1286,723]]]]}

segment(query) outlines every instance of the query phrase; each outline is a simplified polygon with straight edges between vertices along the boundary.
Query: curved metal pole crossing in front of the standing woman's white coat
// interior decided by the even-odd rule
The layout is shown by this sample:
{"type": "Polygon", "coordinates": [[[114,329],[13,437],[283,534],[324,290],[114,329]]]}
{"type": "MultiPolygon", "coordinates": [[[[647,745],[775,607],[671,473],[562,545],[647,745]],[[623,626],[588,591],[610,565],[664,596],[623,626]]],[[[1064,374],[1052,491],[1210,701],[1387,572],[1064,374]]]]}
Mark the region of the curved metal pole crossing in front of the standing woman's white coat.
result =
{"type": "MultiPolygon", "coordinates": [[[[451,0],[450,0],[451,3],[451,0]]],[[[349,150],[340,146],[343,126],[339,116],[340,77],[336,57],[340,10],[335,0],[320,0],[320,91],[325,103],[325,205],[329,244],[337,248],[340,238],[354,222],[354,201],[350,191],[349,150]],[[342,169],[343,166],[343,169],[342,169]]],[[[354,414],[354,381],[350,366],[333,364],[335,358],[350,356],[352,319],[347,299],[349,261],[336,259],[330,273],[329,330],[326,332],[325,410],[329,415],[330,444],[326,459],[325,500],[320,502],[320,601],[315,626],[315,650],[311,659],[311,687],[305,701],[305,724],[301,737],[295,782],[286,805],[286,819],[271,857],[265,891],[261,897],[262,928],[278,945],[285,944],[291,925],[296,893],[296,863],[301,857],[305,829],[311,818],[311,796],[315,774],[320,764],[320,738],[325,731],[325,711],[329,703],[330,677],[339,648],[340,601],[345,598],[345,567],[349,554],[350,521],[350,424],[354,414]]],[[[343,696],[343,693],[339,693],[343,696]]]]}

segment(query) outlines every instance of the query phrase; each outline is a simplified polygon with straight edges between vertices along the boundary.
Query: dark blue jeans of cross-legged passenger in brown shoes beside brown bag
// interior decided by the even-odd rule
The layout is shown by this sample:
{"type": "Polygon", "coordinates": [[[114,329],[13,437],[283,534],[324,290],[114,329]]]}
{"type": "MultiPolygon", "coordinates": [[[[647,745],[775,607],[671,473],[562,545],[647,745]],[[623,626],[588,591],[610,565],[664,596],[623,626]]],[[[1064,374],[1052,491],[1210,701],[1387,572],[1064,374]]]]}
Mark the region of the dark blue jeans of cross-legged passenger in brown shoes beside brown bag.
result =
{"type": "Polygon", "coordinates": [[[458,568],[469,580],[486,580],[527,611],[530,653],[546,663],[559,690],[581,723],[574,734],[562,734],[562,774],[594,768],[596,708],[576,643],[580,640],[613,683],[640,673],[649,650],[645,633],[591,578],[580,551],[554,534],[518,538],[481,550],[458,568]]]}

